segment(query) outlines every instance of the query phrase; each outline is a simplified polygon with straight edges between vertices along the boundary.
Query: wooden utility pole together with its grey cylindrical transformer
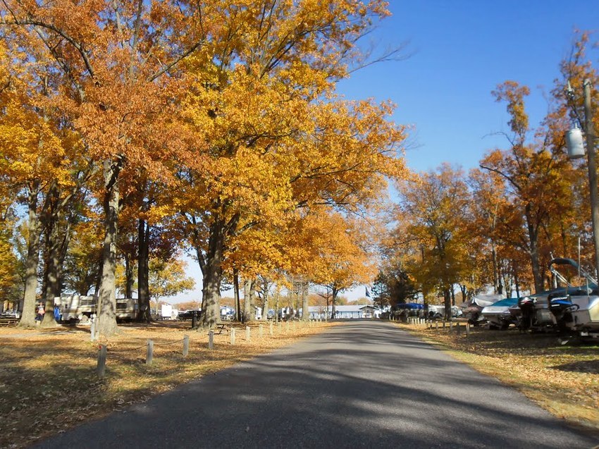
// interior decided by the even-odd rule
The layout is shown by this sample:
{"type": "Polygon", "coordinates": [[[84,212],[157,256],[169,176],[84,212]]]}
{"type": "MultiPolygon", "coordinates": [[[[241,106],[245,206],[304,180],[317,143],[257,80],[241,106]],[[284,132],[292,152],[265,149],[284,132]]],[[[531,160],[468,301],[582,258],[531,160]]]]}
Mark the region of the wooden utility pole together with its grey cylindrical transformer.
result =
{"type": "MultiPolygon", "coordinates": [[[[591,220],[593,222],[593,242],[595,243],[595,273],[599,277],[599,202],[597,194],[597,163],[595,160],[595,129],[593,128],[593,110],[591,108],[591,80],[583,82],[584,87],[584,130],[586,132],[586,156],[588,160],[588,187],[591,192],[591,220]]],[[[568,82],[567,98],[574,100],[574,90],[568,82]]],[[[576,109],[574,109],[576,114],[576,109]]],[[[576,114],[576,118],[578,115],[576,114]]],[[[579,119],[579,122],[581,120],[579,119]]],[[[578,127],[569,130],[566,135],[568,156],[578,159],[584,155],[582,133],[578,127]]]]}

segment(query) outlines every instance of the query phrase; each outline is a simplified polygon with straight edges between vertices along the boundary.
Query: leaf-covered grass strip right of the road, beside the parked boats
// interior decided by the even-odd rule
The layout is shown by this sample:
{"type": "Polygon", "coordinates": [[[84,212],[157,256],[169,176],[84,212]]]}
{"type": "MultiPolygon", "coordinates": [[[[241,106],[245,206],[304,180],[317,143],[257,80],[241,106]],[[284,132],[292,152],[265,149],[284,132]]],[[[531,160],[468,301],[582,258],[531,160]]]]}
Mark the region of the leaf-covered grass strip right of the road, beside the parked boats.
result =
{"type": "Polygon", "coordinates": [[[562,345],[555,334],[490,331],[464,325],[426,329],[398,324],[481,373],[520,390],[572,426],[599,437],[599,346],[562,345]]]}

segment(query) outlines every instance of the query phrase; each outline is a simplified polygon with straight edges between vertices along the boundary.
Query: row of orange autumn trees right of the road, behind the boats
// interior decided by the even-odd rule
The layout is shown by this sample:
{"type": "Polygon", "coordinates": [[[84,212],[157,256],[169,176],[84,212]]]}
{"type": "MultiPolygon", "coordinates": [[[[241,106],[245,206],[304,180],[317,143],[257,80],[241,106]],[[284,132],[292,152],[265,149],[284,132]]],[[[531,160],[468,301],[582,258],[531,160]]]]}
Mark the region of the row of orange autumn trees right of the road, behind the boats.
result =
{"type": "MultiPolygon", "coordinates": [[[[599,81],[586,57],[589,39],[576,35],[538,127],[526,113],[529,87],[502,82],[492,95],[510,116],[505,147],[488,150],[469,173],[441,164],[400,183],[395,228],[373,286],[379,301],[442,297],[449,310],[457,286],[464,301],[489,286],[505,297],[539,293],[551,285],[550,260],[577,260],[579,242],[581,265],[595,273],[586,159],[569,160],[565,140],[572,123],[584,128],[584,80],[599,81]]],[[[594,89],[595,109],[598,101],[594,89]]]]}

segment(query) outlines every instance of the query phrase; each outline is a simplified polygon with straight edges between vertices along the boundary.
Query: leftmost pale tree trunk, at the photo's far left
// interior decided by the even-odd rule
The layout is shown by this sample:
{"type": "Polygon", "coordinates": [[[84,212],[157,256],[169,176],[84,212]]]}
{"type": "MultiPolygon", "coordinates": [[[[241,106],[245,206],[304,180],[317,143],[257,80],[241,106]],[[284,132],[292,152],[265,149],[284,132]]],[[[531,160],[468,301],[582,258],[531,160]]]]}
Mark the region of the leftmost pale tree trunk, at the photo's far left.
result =
{"type": "Polygon", "coordinates": [[[19,326],[35,326],[35,298],[37,295],[37,266],[39,265],[39,218],[37,216],[37,183],[27,197],[29,219],[27,221],[27,260],[25,261],[25,293],[23,314],[19,326]]]}

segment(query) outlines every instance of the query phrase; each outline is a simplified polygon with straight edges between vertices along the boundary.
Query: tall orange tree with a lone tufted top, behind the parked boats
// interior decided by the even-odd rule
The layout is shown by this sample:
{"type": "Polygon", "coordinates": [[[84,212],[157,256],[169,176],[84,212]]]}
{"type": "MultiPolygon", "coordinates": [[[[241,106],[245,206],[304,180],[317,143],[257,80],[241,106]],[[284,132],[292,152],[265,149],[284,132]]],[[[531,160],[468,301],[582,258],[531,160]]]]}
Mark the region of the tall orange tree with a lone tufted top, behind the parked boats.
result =
{"type": "Polygon", "coordinates": [[[489,152],[481,161],[481,168],[497,173],[506,183],[512,210],[504,221],[512,223],[511,230],[520,230],[512,233],[510,238],[529,255],[534,287],[539,292],[544,287],[544,266],[549,262],[553,247],[553,239],[548,238],[545,231],[549,229],[552,217],[559,217],[572,206],[568,176],[572,171],[563,152],[552,151],[556,140],[551,139],[548,130],[539,129],[536,141],[529,142],[531,128],[524,109],[528,87],[507,81],[493,94],[498,102],[506,102],[511,116],[512,134],[506,135],[510,149],[489,152]]]}

